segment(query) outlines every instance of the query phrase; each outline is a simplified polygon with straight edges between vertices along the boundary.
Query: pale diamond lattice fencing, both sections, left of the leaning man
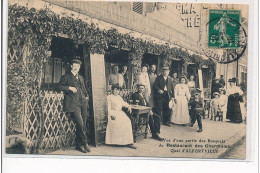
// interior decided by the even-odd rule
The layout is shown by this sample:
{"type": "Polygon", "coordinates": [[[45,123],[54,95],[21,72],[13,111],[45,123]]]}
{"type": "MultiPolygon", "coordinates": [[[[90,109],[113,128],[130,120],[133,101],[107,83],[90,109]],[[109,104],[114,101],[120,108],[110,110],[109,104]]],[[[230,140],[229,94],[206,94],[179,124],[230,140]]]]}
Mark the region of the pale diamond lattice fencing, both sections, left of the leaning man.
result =
{"type": "Polygon", "coordinates": [[[74,145],[75,124],[68,113],[63,112],[63,94],[52,91],[37,93],[30,90],[26,100],[24,130],[30,140],[28,147],[34,148],[43,129],[42,141],[38,145],[45,152],[64,149],[74,145]],[[43,122],[40,122],[43,116],[43,122]],[[41,126],[42,124],[42,126],[41,126]]]}

